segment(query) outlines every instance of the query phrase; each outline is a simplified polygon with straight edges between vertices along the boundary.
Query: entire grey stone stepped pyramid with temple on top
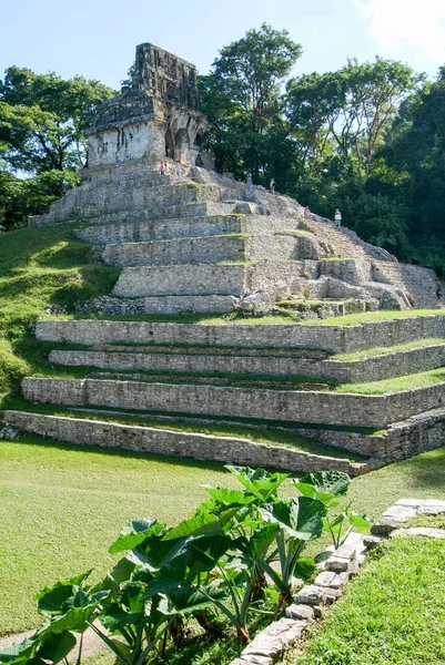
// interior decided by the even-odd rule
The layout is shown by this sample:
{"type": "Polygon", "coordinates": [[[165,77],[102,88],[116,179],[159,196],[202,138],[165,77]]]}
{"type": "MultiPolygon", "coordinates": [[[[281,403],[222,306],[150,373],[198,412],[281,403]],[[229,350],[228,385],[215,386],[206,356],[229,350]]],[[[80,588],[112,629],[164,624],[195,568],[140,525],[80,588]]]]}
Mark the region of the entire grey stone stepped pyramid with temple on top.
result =
{"type": "Polygon", "coordinates": [[[75,417],[30,408],[3,411],[3,422],[75,443],[353,474],[443,444],[445,383],[372,395],[344,388],[442,367],[445,345],[423,341],[445,337],[445,317],[348,327],[320,321],[437,308],[434,273],[398,263],[328,219],[305,217],[287,196],[218,174],[203,149],[209,130],[195,68],[139,45],[132,85],[102,104],[89,130],[80,186],[30,219],[36,227],[75,223],[73,233],[93,246],[95,260],[122,268],[112,293],[79,306],[83,319],[37,324],[38,339],[59,347],[50,355],[53,366],[89,374],[27,377],[22,393],[75,417]],[[230,318],[280,309],[299,313],[302,321],[230,318]],[[227,324],[181,323],[191,313],[225,314],[227,324]],[[130,315],[146,320],[121,320],[130,315]],[[178,323],[153,323],[150,315],[178,315],[178,323]],[[337,358],[376,347],[386,352],[337,358]],[[125,423],[101,420],[107,413],[124,416],[125,423]],[[195,431],[144,427],[138,415],[164,423],[182,419],[195,431]],[[271,431],[280,424],[333,453],[200,433],[212,419],[271,431]]]}

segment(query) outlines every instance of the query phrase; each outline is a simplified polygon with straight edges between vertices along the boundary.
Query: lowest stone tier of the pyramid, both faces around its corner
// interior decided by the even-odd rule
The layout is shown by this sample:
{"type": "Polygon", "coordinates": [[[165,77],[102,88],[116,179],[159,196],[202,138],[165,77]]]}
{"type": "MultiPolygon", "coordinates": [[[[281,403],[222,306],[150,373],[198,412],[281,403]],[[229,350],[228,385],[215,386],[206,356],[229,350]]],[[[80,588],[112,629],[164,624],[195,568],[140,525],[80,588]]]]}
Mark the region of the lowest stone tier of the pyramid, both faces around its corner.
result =
{"type": "MultiPolygon", "coordinates": [[[[121,448],[252,467],[271,467],[291,472],[335,469],[355,475],[366,470],[366,466],[352,464],[345,459],[315,456],[280,444],[256,443],[249,439],[213,437],[22,411],[2,411],[0,422],[42,437],[77,444],[121,448]]],[[[299,433],[357,454],[378,459],[381,463],[390,463],[441,448],[445,440],[445,409],[414,416],[380,436],[304,428],[299,429],[299,433]]]]}

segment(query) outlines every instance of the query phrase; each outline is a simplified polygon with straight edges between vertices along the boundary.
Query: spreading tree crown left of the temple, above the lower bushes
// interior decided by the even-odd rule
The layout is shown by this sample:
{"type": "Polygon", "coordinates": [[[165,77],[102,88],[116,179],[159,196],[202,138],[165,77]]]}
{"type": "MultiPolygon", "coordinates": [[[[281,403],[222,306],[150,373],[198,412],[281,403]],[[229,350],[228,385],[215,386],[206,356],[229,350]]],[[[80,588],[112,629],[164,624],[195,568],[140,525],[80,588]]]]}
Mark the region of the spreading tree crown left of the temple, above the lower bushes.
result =
{"type": "Polygon", "coordinates": [[[29,174],[85,164],[84,130],[113,91],[83,76],[63,80],[10,66],[0,81],[0,151],[7,165],[29,174]]]}

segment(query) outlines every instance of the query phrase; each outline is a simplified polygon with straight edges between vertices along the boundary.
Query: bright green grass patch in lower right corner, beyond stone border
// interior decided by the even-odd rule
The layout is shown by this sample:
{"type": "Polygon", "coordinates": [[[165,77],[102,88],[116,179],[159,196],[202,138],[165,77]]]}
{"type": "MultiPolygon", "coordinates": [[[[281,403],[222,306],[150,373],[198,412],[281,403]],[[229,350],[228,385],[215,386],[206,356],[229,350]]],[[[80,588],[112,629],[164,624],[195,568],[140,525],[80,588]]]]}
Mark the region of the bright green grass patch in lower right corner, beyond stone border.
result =
{"type": "Polygon", "coordinates": [[[383,548],[289,665],[443,665],[445,548],[398,538],[383,548]]]}

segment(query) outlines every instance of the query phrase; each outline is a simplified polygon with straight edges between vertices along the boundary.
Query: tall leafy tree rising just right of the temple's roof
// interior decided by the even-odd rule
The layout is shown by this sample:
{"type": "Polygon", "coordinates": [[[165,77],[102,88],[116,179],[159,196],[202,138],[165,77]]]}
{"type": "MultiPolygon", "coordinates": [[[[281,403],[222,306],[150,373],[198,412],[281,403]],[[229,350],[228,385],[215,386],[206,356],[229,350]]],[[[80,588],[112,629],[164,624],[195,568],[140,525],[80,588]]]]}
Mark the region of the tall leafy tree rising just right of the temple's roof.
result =
{"type": "Polygon", "coordinates": [[[277,158],[273,145],[284,152],[279,162],[292,152],[280,85],[301,52],[286,30],[263,23],[224,47],[212,72],[200,78],[202,108],[213,124],[211,147],[221,171],[231,170],[240,177],[251,173],[255,183],[263,184],[279,175],[272,172],[277,158]]]}

